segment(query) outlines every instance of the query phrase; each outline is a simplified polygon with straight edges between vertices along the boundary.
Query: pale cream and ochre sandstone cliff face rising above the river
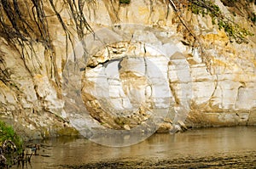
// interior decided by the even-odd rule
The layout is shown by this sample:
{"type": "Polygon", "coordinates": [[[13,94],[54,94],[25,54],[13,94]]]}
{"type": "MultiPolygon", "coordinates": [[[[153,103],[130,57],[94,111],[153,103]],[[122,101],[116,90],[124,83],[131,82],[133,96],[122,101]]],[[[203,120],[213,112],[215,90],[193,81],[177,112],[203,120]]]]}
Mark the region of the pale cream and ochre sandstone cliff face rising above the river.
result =
{"type": "MultiPolygon", "coordinates": [[[[228,7],[217,3],[230,14],[228,7]]],[[[192,127],[256,124],[255,36],[247,44],[230,42],[210,16],[184,10],[197,37],[191,45],[189,33],[168,3],[143,0],[86,1],[84,18],[98,35],[93,36],[85,25],[81,31],[70,5],[53,4],[55,8],[42,3],[49,45],[31,18],[32,8],[26,8],[33,6],[28,0],[19,5],[35,30],[32,42],[20,46],[15,37],[9,39],[1,31],[1,118],[28,137],[72,134],[72,127],[86,132],[96,123],[130,130],[152,117],[163,127],[171,127],[165,121],[185,120],[192,127]],[[90,52],[84,52],[84,44],[90,52]],[[66,66],[78,60],[84,63],[77,67],[84,75],[71,73],[68,80],[73,87],[63,89],[68,83],[62,77],[66,66]],[[79,111],[79,94],[89,116],[79,111]],[[69,99],[63,99],[66,96],[69,99]]],[[[8,20],[5,13],[3,17],[8,20]]],[[[252,22],[239,15],[234,20],[256,34],[252,22]]]]}

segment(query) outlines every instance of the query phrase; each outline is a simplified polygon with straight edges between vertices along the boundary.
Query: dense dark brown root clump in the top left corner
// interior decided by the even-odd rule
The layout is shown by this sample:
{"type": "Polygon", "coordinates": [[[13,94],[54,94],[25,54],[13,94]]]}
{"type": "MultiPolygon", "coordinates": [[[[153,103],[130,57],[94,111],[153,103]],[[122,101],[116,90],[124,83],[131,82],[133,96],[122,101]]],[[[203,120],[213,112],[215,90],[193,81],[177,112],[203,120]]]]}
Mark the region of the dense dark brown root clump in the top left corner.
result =
{"type": "MultiPolygon", "coordinates": [[[[0,36],[4,37],[17,49],[18,52],[20,52],[26,69],[29,70],[25,63],[25,54],[29,55],[29,51],[25,46],[29,48],[32,56],[36,56],[35,51],[32,48],[32,39],[34,39],[33,37],[37,37],[36,31],[32,29],[32,26],[23,17],[16,0],[13,0],[13,3],[9,0],[1,0],[0,16],[0,36]],[[21,48],[21,51],[18,48],[21,48]]],[[[38,65],[41,66],[37,57],[35,60],[38,65]]],[[[34,70],[36,70],[35,67],[36,66],[33,64],[34,70]]]]}

